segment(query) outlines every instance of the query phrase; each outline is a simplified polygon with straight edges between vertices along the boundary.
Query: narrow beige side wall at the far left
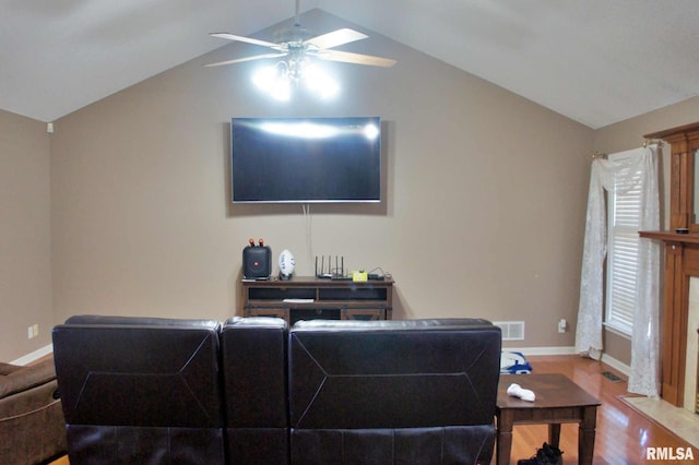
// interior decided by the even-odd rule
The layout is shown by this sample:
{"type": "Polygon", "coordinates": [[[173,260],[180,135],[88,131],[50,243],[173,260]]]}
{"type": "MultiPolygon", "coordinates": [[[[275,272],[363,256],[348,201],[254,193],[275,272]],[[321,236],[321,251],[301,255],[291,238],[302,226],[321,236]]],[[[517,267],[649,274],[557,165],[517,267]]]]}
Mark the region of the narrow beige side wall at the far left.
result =
{"type": "Polygon", "coordinates": [[[50,343],[50,187],[46,124],[0,110],[0,360],[50,343]],[[27,327],[38,324],[28,339],[27,327]]]}

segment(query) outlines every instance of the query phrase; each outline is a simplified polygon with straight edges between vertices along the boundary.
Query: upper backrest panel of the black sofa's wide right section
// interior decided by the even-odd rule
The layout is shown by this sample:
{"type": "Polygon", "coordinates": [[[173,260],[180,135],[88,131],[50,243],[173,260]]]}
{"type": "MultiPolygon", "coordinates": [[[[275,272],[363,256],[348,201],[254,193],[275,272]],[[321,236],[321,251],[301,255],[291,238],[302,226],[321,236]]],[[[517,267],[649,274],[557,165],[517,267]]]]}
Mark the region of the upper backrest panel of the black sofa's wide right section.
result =
{"type": "Polygon", "coordinates": [[[299,322],[292,428],[491,425],[500,348],[500,329],[485,320],[299,322]]]}

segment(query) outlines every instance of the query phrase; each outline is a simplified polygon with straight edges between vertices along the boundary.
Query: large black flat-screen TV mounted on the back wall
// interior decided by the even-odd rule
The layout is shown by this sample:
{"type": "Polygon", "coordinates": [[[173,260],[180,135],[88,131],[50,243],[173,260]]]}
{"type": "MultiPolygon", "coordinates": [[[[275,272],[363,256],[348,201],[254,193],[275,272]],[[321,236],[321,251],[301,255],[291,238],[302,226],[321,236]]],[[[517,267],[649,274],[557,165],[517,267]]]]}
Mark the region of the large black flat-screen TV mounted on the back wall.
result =
{"type": "Polygon", "coordinates": [[[381,201],[381,120],[233,118],[234,203],[381,201]]]}

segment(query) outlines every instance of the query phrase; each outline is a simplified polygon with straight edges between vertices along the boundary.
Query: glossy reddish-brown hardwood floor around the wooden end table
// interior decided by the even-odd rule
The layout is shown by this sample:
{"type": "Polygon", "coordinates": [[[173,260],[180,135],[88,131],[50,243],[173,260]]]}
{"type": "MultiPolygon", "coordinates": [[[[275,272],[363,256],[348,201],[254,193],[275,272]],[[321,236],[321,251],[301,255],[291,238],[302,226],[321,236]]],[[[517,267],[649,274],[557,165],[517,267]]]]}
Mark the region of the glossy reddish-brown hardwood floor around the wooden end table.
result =
{"type": "MultiPolygon", "coordinates": [[[[689,448],[683,441],[659,424],[649,420],[619,400],[626,392],[626,375],[600,361],[569,356],[530,356],[528,357],[537,373],[562,373],[582,389],[600,400],[597,408],[597,428],[594,446],[594,465],[636,465],[636,464],[678,464],[691,461],[647,461],[645,448],[689,448]],[[609,371],[621,378],[614,382],[602,375],[609,371]]],[[[537,448],[547,439],[547,427],[544,425],[519,425],[514,427],[512,438],[511,464],[519,458],[531,457],[537,448]]],[[[578,463],[578,426],[562,425],[560,449],[564,451],[564,463],[578,463]]],[[[694,449],[695,458],[699,458],[699,450],[694,449]]],[[[495,456],[493,458],[495,463],[495,456]]],[[[696,463],[696,462],[695,462],[696,463]]],[[[68,465],[67,457],[51,465],[68,465]]]]}

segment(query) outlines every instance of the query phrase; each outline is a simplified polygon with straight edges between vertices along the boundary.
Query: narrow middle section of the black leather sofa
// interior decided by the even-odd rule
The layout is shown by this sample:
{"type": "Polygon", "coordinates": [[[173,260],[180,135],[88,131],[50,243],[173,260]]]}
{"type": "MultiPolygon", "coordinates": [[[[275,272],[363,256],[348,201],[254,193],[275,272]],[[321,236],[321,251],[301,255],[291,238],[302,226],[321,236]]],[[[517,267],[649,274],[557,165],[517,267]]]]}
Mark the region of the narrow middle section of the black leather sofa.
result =
{"type": "Polygon", "coordinates": [[[288,464],[286,322],[234,318],[221,350],[230,464],[288,464]]]}

